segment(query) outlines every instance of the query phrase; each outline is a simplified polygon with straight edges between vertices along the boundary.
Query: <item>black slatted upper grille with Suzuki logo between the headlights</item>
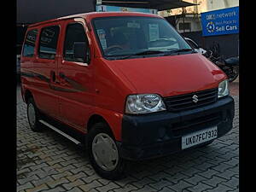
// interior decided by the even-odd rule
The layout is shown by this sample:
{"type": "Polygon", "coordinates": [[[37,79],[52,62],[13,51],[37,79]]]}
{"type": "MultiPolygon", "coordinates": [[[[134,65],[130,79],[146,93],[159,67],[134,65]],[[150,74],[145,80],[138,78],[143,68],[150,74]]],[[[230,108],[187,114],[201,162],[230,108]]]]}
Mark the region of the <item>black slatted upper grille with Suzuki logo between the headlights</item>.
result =
{"type": "Polygon", "coordinates": [[[201,90],[179,96],[165,97],[166,108],[168,111],[176,112],[191,108],[200,108],[213,102],[217,102],[218,88],[211,90],[201,90]],[[198,102],[193,102],[193,96],[197,96],[198,102]]]}

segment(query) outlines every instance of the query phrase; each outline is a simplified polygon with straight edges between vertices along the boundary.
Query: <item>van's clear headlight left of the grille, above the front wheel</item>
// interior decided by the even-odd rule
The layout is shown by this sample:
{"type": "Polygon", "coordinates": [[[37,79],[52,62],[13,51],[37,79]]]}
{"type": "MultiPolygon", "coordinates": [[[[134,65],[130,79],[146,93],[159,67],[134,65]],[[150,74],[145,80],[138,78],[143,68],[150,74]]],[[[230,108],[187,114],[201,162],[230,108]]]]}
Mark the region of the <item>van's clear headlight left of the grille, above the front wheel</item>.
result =
{"type": "Polygon", "coordinates": [[[128,96],[125,113],[140,114],[166,110],[165,103],[156,94],[142,94],[128,96]]]}

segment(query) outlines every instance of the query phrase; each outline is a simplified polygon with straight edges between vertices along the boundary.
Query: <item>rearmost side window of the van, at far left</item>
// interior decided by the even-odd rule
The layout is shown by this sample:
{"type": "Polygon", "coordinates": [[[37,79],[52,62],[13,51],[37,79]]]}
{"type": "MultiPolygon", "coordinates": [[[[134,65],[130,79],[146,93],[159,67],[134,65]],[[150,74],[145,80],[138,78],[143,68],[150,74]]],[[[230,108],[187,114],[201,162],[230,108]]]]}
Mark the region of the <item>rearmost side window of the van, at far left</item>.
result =
{"type": "Polygon", "coordinates": [[[36,44],[36,39],[38,35],[38,30],[33,29],[26,33],[26,39],[23,46],[23,56],[32,57],[34,55],[34,49],[36,44]]]}

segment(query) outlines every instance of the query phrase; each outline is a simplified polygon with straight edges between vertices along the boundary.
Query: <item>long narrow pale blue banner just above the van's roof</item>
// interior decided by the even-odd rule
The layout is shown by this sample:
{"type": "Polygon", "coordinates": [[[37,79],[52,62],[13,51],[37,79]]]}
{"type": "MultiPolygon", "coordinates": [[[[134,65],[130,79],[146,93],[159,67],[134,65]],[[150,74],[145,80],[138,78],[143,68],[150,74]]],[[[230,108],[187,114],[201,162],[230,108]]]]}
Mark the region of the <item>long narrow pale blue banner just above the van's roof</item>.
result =
{"type": "Polygon", "coordinates": [[[96,5],[96,12],[110,12],[110,11],[140,12],[140,13],[157,15],[156,9],[125,8],[125,7],[116,7],[116,6],[108,6],[108,5],[96,5]]]}

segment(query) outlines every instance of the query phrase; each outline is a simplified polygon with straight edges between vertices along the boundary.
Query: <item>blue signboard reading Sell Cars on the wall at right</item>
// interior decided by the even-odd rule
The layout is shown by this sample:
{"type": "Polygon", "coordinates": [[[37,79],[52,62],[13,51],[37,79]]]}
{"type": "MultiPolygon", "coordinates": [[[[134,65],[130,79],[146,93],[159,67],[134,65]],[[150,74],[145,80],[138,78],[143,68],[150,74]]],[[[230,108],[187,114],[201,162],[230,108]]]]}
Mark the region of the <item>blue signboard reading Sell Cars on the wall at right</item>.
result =
{"type": "Polygon", "coordinates": [[[201,13],[203,36],[239,33],[239,7],[201,13]]]}

